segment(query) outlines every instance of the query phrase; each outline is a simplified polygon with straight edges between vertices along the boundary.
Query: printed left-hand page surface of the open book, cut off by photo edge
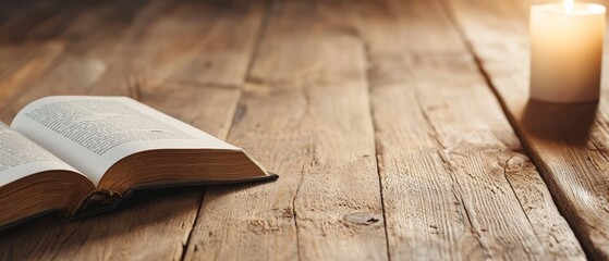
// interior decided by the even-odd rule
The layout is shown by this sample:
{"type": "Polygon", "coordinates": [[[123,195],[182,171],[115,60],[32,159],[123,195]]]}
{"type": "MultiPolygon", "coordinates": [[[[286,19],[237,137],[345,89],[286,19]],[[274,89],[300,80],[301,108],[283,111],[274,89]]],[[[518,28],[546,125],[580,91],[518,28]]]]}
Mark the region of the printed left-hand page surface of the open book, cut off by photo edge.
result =
{"type": "Polygon", "coordinates": [[[0,122],[0,187],[44,171],[74,167],[0,122]]]}

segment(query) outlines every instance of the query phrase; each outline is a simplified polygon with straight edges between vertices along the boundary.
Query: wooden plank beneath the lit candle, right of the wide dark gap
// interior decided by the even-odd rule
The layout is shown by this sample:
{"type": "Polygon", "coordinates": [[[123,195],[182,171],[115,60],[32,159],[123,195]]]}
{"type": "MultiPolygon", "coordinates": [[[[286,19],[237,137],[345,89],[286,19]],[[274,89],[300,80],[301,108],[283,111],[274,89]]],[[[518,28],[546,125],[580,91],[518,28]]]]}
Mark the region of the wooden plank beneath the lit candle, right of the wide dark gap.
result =
{"type": "MultiPolygon", "coordinates": [[[[451,0],[463,35],[590,259],[609,259],[607,89],[600,104],[528,101],[527,4],[451,0]]],[[[607,66],[606,66],[607,67],[607,66]]]]}

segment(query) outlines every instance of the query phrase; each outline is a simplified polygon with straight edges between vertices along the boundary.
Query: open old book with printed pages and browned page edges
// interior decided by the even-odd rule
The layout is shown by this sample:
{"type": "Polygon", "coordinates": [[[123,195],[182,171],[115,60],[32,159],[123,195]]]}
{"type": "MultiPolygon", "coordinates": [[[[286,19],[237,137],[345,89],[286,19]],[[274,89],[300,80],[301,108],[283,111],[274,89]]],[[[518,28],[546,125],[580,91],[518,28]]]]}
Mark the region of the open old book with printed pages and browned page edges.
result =
{"type": "Polygon", "coordinates": [[[146,187],[273,179],[243,149],[126,97],[58,96],[0,122],[0,227],[146,187]]]}

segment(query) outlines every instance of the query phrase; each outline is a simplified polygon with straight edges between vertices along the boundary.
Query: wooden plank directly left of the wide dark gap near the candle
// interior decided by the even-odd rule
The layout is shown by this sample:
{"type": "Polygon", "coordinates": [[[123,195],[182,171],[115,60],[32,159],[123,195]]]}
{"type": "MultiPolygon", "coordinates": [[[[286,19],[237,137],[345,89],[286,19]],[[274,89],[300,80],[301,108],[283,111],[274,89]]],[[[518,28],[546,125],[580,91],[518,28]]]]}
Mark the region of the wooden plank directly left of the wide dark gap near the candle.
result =
{"type": "Polygon", "coordinates": [[[584,259],[442,2],[351,12],[369,50],[391,258],[584,259]]]}

